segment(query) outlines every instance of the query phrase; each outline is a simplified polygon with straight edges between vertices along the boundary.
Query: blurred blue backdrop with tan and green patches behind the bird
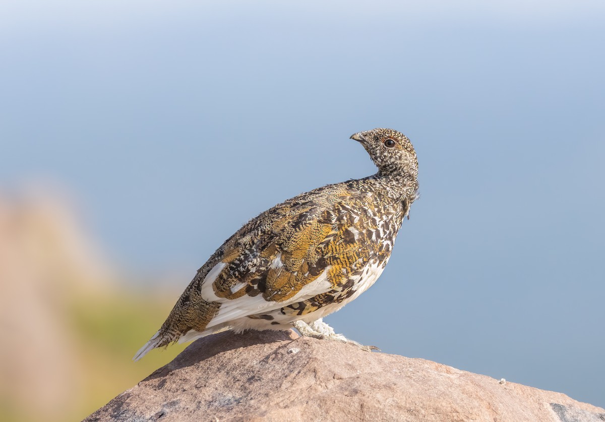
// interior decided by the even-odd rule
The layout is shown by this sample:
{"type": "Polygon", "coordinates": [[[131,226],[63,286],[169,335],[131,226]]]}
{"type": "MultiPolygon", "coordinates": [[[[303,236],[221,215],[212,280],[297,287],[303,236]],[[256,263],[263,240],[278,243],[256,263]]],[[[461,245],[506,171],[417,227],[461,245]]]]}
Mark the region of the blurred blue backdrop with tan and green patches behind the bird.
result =
{"type": "Polygon", "coordinates": [[[0,3],[0,413],[81,419],[247,219],[413,141],[421,198],[327,318],[605,406],[605,3],[0,3]]]}

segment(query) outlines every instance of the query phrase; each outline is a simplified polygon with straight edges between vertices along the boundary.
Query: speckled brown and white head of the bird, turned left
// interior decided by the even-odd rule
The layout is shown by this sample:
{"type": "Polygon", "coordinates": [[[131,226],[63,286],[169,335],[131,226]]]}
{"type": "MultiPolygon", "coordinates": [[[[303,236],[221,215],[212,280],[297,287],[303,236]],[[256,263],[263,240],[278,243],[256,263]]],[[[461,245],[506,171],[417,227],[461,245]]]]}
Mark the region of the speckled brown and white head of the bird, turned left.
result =
{"type": "Polygon", "coordinates": [[[418,177],[418,160],[410,140],[393,129],[358,132],[351,139],[359,141],[378,167],[378,174],[396,178],[418,177]]]}

